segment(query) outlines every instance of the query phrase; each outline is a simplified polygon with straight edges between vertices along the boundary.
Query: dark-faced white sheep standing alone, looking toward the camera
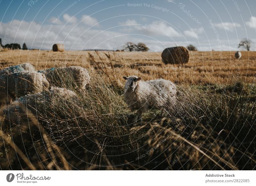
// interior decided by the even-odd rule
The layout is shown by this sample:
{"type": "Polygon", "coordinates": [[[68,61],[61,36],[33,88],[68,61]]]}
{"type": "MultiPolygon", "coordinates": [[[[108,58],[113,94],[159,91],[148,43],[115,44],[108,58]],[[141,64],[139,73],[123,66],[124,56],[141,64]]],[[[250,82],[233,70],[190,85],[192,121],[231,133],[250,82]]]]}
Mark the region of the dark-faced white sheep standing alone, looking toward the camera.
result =
{"type": "Polygon", "coordinates": [[[157,79],[140,81],[141,77],[123,77],[124,101],[133,112],[137,110],[136,120],[141,120],[142,113],[149,108],[168,108],[176,102],[176,86],[168,80],[157,79]]]}

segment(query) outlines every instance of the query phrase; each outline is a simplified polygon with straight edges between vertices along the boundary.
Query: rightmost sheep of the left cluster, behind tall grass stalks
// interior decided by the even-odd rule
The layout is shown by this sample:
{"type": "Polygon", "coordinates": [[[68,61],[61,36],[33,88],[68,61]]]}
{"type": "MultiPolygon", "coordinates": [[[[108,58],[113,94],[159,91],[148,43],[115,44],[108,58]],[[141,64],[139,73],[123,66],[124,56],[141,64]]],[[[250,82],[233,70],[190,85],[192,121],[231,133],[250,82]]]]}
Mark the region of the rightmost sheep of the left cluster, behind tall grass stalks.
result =
{"type": "Polygon", "coordinates": [[[81,66],[50,68],[38,71],[45,74],[51,86],[84,90],[90,82],[88,71],[81,66]]]}

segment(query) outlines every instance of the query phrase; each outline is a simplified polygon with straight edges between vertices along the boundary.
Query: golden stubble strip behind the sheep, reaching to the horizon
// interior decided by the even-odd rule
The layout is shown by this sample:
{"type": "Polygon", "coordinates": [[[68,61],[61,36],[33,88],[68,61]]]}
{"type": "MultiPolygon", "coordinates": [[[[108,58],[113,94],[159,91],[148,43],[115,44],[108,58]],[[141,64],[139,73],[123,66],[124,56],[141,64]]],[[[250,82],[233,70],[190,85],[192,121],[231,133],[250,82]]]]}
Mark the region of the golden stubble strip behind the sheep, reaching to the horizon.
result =
{"type": "Polygon", "coordinates": [[[256,52],[246,51],[242,51],[241,61],[235,59],[235,52],[192,51],[190,61],[184,67],[164,65],[161,53],[153,52],[109,52],[108,56],[108,52],[100,51],[99,58],[95,51],[7,51],[1,52],[0,68],[29,62],[41,70],[51,68],[55,61],[55,65],[83,66],[91,70],[96,65],[92,63],[90,53],[96,61],[101,58],[106,65],[109,60],[114,61],[121,82],[124,82],[123,75],[136,74],[144,80],[164,78],[193,85],[230,84],[237,77],[250,83],[256,71],[256,52]]]}

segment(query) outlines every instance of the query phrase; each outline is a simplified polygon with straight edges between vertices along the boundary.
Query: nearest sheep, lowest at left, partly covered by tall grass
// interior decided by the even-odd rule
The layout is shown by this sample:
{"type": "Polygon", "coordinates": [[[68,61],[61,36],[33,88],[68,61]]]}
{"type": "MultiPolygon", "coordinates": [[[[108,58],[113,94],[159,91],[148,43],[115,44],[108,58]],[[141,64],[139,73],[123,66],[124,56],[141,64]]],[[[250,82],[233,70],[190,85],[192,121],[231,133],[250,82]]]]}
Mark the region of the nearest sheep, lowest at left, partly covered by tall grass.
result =
{"type": "MultiPolygon", "coordinates": [[[[24,125],[28,122],[29,117],[36,116],[41,121],[52,120],[56,122],[56,117],[63,116],[71,118],[73,114],[81,112],[81,102],[77,95],[68,89],[52,87],[43,92],[28,94],[11,102],[8,106],[3,107],[5,120],[12,124],[24,125]],[[28,111],[31,111],[29,113],[28,111]]],[[[10,125],[10,123],[9,123],[10,125]]]]}

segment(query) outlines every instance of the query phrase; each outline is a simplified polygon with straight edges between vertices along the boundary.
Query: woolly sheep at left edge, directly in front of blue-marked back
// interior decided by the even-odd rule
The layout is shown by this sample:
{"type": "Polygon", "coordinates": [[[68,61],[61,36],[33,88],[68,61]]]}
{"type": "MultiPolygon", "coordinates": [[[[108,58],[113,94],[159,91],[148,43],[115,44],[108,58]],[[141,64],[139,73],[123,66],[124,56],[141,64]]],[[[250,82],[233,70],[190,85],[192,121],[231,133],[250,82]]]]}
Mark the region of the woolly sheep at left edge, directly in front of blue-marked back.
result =
{"type": "Polygon", "coordinates": [[[28,93],[35,94],[49,88],[44,74],[38,72],[18,72],[0,76],[1,97],[17,98],[28,93]]]}

